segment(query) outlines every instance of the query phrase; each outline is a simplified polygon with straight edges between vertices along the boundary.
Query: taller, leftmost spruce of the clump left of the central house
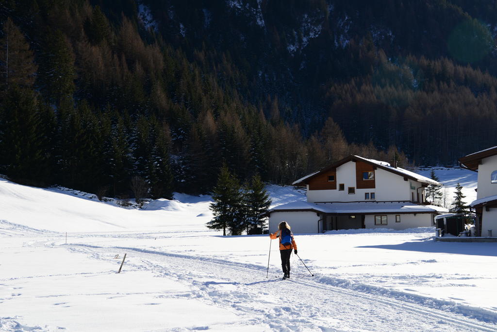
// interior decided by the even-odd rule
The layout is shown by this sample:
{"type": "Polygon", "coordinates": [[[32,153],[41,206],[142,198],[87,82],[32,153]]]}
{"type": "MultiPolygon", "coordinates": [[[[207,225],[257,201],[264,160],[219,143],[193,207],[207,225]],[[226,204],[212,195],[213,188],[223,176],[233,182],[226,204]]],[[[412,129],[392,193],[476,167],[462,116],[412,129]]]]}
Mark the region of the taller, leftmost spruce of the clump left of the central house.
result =
{"type": "Polygon", "coordinates": [[[241,201],[240,185],[226,164],[221,167],[212,199],[214,203],[211,203],[209,208],[214,218],[207,222],[207,227],[222,229],[223,235],[226,235],[226,229],[229,229],[232,234],[238,234],[243,227],[238,220],[240,216],[238,208],[241,201]]]}

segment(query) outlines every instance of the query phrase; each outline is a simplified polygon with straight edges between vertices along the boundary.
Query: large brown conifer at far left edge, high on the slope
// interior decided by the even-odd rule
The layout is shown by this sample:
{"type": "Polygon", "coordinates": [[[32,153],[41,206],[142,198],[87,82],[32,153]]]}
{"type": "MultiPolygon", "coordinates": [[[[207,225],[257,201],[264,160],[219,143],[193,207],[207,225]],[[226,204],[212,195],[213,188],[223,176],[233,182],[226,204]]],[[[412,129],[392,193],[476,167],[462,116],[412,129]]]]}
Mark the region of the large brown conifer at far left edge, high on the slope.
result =
{"type": "Polygon", "coordinates": [[[10,17],[3,23],[0,38],[0,85],[1,92],[12,84],[30,88],[33,86],[37,66],[33,51],[22,32],[10,17]]]}

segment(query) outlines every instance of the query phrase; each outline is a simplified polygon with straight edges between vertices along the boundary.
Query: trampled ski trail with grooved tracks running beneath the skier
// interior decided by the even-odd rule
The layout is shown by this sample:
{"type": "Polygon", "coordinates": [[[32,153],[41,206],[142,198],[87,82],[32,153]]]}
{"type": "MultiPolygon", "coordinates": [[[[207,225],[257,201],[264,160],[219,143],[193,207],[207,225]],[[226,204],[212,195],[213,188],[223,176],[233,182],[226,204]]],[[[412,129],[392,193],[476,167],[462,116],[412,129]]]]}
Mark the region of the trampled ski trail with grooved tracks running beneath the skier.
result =
{"type": "Polygon", "coordinates": [[[275,331],[497,331],[493,324],[497,322],[496,315],[479,308],[454,307],[453,303],[433,299],[421,301],[412,294],[364,284],[351,289],[352,283],[344,279],[312,279],[308,274],[293,273],[296,266],[292,266],[292,279],[282,281],[275,277],[280,271],[274,267],[266,279],[265,268],[261,270],[260,266],[212,258],[134,247],[65,245],[61,240],[35,244],[62,246],[108,261],[112,261],[109,252],[124,250],[128,257],[140,260],[140,264],[125,263],[124,270],[154,271],[157,277],[177,280],[191,289],[159,297],[187,297],[228,309],[241,317],[237,326],[262,323],[275,331]]]}

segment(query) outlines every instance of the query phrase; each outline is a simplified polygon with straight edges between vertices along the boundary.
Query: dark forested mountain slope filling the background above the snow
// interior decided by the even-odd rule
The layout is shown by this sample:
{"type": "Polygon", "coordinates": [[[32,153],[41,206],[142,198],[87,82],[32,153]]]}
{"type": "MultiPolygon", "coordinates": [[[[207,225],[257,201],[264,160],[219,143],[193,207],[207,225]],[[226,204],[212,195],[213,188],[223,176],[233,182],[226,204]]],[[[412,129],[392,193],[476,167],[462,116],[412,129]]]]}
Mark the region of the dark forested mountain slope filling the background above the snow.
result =
{"type": "Polygon", "coordinates": [[[151,197],[222,161],[288,183],[349,153],[496,145],[489,1],[4,0],[0,172],[151,197]]]}

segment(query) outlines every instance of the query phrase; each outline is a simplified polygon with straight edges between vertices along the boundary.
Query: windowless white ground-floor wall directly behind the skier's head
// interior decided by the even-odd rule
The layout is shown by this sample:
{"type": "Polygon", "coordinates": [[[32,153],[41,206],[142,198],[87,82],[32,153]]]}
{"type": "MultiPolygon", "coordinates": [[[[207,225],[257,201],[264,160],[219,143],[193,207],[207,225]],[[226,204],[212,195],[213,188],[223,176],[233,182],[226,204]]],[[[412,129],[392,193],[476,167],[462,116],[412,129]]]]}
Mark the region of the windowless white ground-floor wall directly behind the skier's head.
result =
{"type": "Polygon", "coordinates": [[[317,233],[318,221],[321,218],[323,218],[323,215],[318,217],[316,212],[273,212],[269,217],[269,232],[274,233],[278,230],[278,224],[281,221],[286,221],[290,224],[290,227],[292,227],[292,232],[294,234],[317,233]]]}

